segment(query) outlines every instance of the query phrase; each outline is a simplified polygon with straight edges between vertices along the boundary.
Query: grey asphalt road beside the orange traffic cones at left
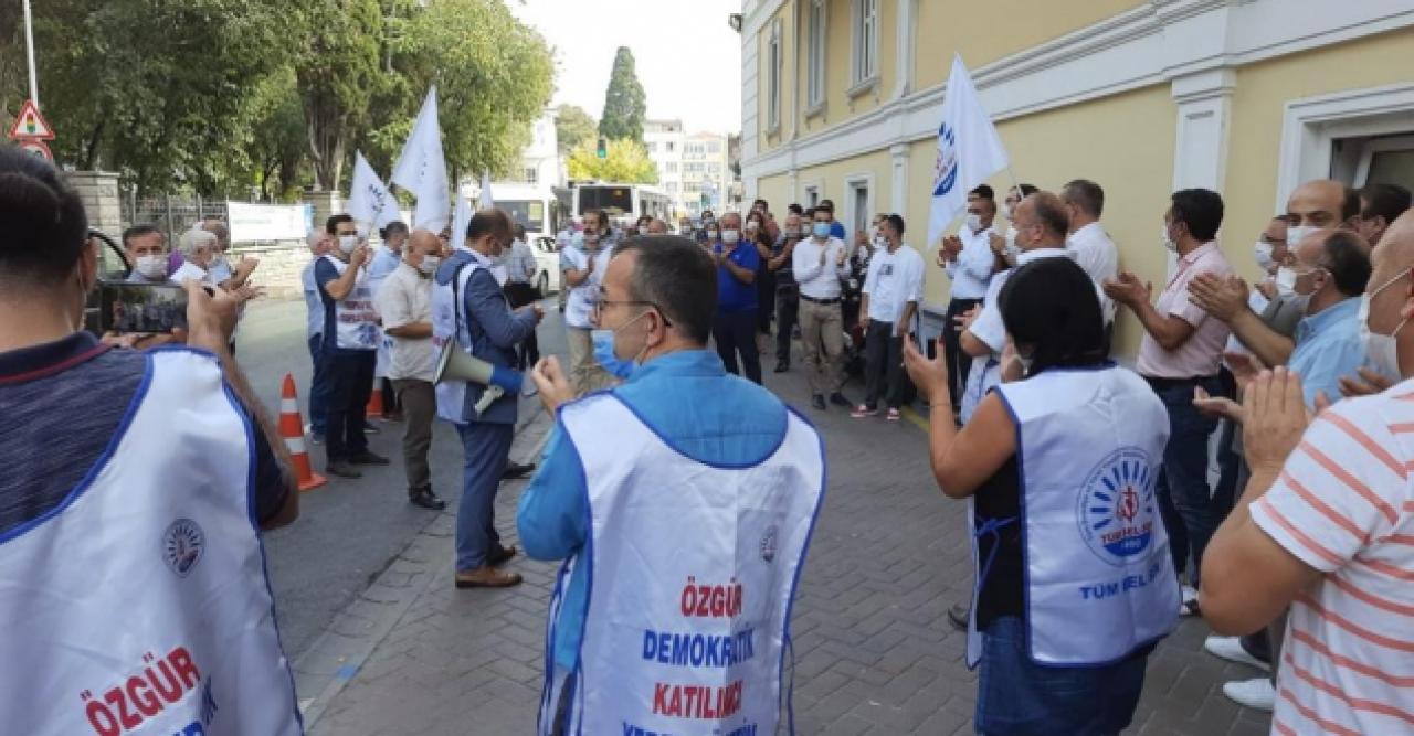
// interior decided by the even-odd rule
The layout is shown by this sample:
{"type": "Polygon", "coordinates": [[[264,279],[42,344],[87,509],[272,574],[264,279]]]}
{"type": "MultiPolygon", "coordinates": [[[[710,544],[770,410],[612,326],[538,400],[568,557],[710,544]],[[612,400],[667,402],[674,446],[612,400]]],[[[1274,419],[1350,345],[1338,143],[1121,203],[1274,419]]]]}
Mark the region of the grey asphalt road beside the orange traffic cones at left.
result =
{"type": "MultiPolygon", "coordinates": [[[[543,302],[540,350],[564,360],[566,340],[554,299],[543,302]]],[[[293,373],[300,408],[308,421],[310,352],[305,343],[303,301],[253,304],[236,335],[236,360],[271,414],[280,407],[280,386],[293,373]]],[[[522,418],[539,401],[522,398],[522,418]]],[[[300,499],[300,518],[264,535],[267,569],[276,596],[276,615],[286,654],[293,660],[314,643],[334,616],[368,588],[411,538],[433,520],[433,513],[407,503],[402,466],[402,424],[375,420],[379,434],[369,449],[393,461],[386,468],[363,468],[358,480],[329,479],[300,499]]],[[[324,452],[310,445],[310,459],[320,472],[324,452]]],[[[525,461],[525,458],[512,458],[525,461]]],[[[433,439],[433,487],[451,497],[461,487],[462,451],[455,429],[437,422],[433,439]]],[[[447,559],[451,565],[452,561],[447,559]]]]}

